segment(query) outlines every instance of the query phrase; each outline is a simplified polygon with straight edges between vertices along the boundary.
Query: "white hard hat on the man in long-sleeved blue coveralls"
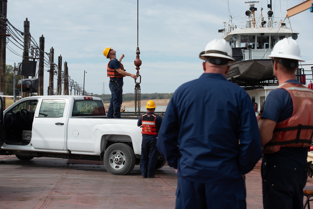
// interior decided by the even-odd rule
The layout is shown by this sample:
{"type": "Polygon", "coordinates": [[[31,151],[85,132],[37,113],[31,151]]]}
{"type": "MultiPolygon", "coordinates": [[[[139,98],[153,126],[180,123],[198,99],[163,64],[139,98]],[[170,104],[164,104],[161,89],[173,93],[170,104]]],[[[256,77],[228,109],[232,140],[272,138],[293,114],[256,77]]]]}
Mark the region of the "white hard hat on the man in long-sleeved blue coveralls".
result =
{"type": "Polygon", "coordinates": [[[214,39],[206,44],[205,51],[201,52],[199,58],[206,60],[207,56],[221,57],[235,61],[232,57],[232,47],[224,39],[214,39]]]}

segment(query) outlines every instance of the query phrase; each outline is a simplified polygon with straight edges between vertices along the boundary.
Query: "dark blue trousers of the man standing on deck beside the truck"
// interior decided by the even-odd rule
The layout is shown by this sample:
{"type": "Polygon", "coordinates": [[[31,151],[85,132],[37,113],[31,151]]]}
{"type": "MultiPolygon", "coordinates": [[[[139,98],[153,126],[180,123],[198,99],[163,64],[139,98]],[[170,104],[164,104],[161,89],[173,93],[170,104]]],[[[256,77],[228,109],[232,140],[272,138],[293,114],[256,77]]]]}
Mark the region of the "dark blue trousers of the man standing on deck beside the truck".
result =
{"type": "Polygon", "coordinates": [[[158,161],[158,150],[156,147],[156,136],[142,137],[140,171],[145,177],[154,175],[155,165],[158,161]]]}

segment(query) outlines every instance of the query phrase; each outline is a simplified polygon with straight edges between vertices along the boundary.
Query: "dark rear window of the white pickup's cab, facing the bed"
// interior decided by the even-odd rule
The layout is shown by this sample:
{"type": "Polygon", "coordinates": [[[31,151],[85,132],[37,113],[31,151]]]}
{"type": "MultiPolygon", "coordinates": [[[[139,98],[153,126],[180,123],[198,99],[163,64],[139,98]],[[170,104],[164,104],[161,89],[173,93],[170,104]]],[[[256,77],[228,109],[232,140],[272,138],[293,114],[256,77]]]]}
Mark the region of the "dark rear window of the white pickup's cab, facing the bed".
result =
{"type": "Polygon", "coordinates": [[[76,100],[72,117],[75,116],[105,116],[105,109],[101,100],[76,100]]]}

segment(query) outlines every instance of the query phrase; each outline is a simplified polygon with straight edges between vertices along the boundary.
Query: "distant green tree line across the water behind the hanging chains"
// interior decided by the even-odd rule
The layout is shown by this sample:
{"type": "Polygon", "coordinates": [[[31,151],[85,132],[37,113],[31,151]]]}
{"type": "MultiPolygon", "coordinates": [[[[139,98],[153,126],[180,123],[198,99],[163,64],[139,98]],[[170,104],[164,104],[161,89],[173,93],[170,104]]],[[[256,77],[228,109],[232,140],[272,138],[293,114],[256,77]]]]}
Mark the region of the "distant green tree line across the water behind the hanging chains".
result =
{"type": "MultiPolygon", "coordinates": [[[[92,96],[102,98],[104,103],[110,102],[111,94],[93,94],[92,96]]],[[[141,94],[141,100],[154,100],[154,99],[170,99],[173,96],[173,93],[152,93],[152,94],[141,94]]],[[[135,95],[134,93],[123,94],[123,102],[134,101],[135,95]]]]}

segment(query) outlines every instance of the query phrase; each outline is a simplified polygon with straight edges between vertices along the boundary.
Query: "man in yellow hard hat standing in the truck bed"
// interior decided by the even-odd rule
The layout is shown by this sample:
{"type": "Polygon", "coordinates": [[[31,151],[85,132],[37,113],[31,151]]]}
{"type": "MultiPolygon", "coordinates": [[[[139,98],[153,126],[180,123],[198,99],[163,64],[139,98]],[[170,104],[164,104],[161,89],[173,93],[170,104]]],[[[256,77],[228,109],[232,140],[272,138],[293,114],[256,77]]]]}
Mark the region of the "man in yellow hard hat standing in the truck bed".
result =
{"type": "Polygon", "coordinates": [[[137,79],[137,76],[130,74],[124,70],[124,66],[121,63],[124,55],[119,60],[116,59],[116,51],[111,48],[105,48],[103,55],[110,59],[107,64],[107,76],[110,77],[109,88],[111,91],[111,100],[109,110],[107,112],[107,118],[121,118],[121,105],[123,102],[123,77],[130,76],[133,79],[137,79]]]}

